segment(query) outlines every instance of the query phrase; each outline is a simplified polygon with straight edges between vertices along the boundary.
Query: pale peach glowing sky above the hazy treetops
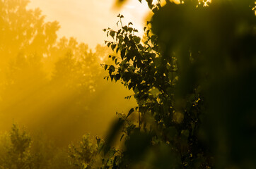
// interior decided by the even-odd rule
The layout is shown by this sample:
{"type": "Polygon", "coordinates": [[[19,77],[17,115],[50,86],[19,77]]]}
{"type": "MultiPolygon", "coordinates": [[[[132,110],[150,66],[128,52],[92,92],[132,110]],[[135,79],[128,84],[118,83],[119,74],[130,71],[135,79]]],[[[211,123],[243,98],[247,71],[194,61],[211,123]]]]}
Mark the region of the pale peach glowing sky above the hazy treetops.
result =
{"type": "Polygon", "coordinates": [[[39,7],[46,21],[57,20],[61,25],[59,37],[76,37],[91,49],[104,44],[104,28],[116,28],[117,15],[124,15],[124,24],[134,23],[142,35],[144,18],[149,8],[146,1],[130,0],[120,9],[113,8],[114,0],[30,0],[29,8],[39,7]]]}

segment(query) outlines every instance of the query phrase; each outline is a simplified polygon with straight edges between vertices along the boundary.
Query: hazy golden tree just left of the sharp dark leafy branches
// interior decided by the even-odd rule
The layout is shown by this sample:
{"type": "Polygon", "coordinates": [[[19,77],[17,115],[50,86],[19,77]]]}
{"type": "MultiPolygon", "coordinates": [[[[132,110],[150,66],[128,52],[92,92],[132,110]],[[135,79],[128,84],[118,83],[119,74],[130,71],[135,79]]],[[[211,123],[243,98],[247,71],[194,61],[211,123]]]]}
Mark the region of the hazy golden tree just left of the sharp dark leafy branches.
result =
{"type": "MultiPolygon", "coordinates": [[[[100,46],[98,46],[100,49],[100,46]]],[[[98,50],[95,51],[99,52],[98,50]]],[[[100,74],[100,55],[88,51],[86,44],[78,44],[76,39],[60,39],[54,54],[58,60],[54,64],[52,80],[64,80],[61,84],[76,89],[83,89],[86,92],[95,92],[95,87],[100,74]]],[[[51,59],[51,58],[50,58],[51,59]]],[[[84,93],[85,91],[83,91],[84,93]]]]}

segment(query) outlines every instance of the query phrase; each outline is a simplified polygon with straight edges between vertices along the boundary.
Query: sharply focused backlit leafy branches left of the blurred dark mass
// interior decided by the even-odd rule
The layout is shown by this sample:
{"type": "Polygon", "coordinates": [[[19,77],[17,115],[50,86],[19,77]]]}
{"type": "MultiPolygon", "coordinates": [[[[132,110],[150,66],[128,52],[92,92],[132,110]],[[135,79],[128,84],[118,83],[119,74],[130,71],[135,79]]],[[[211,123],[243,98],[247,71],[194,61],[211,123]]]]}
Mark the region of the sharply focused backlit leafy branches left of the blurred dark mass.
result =
{"type": "MultiPolygon", "coordinates": [[[[121,19],[121,16],[118,17],[121,19]]],[[[116,55],[110,55],[114,65],[104,65],[104,68],[111,80],[120,80],[133,90],[138,104],[127,115],[120,114],[120,119],[124,120],[120,140],[124,139],[125,145],[120,167],[130,168],[144,161],[157,168],[158,157],[146,155],[155,151],[159,151],[160,156],[178,157],[172,160],[178,168],[209,166],[209,157],[206,150],[199,147],[197,138],[202,108],[199,88],[185,99],[175,100],[178,82],[175,53],[163,57],[158,36],[151,32],[151,22],[144,27],[144,42],[135,35],[136,30],[131,25],[129,23],[117,31],[104,30],[115,40],[106,42],[107,46],[116,52],[116,55]],[[134,114],[136,120],[130,118],[134,114]],[[162,146],[170,151],[160,150],[162,146]]]]}

